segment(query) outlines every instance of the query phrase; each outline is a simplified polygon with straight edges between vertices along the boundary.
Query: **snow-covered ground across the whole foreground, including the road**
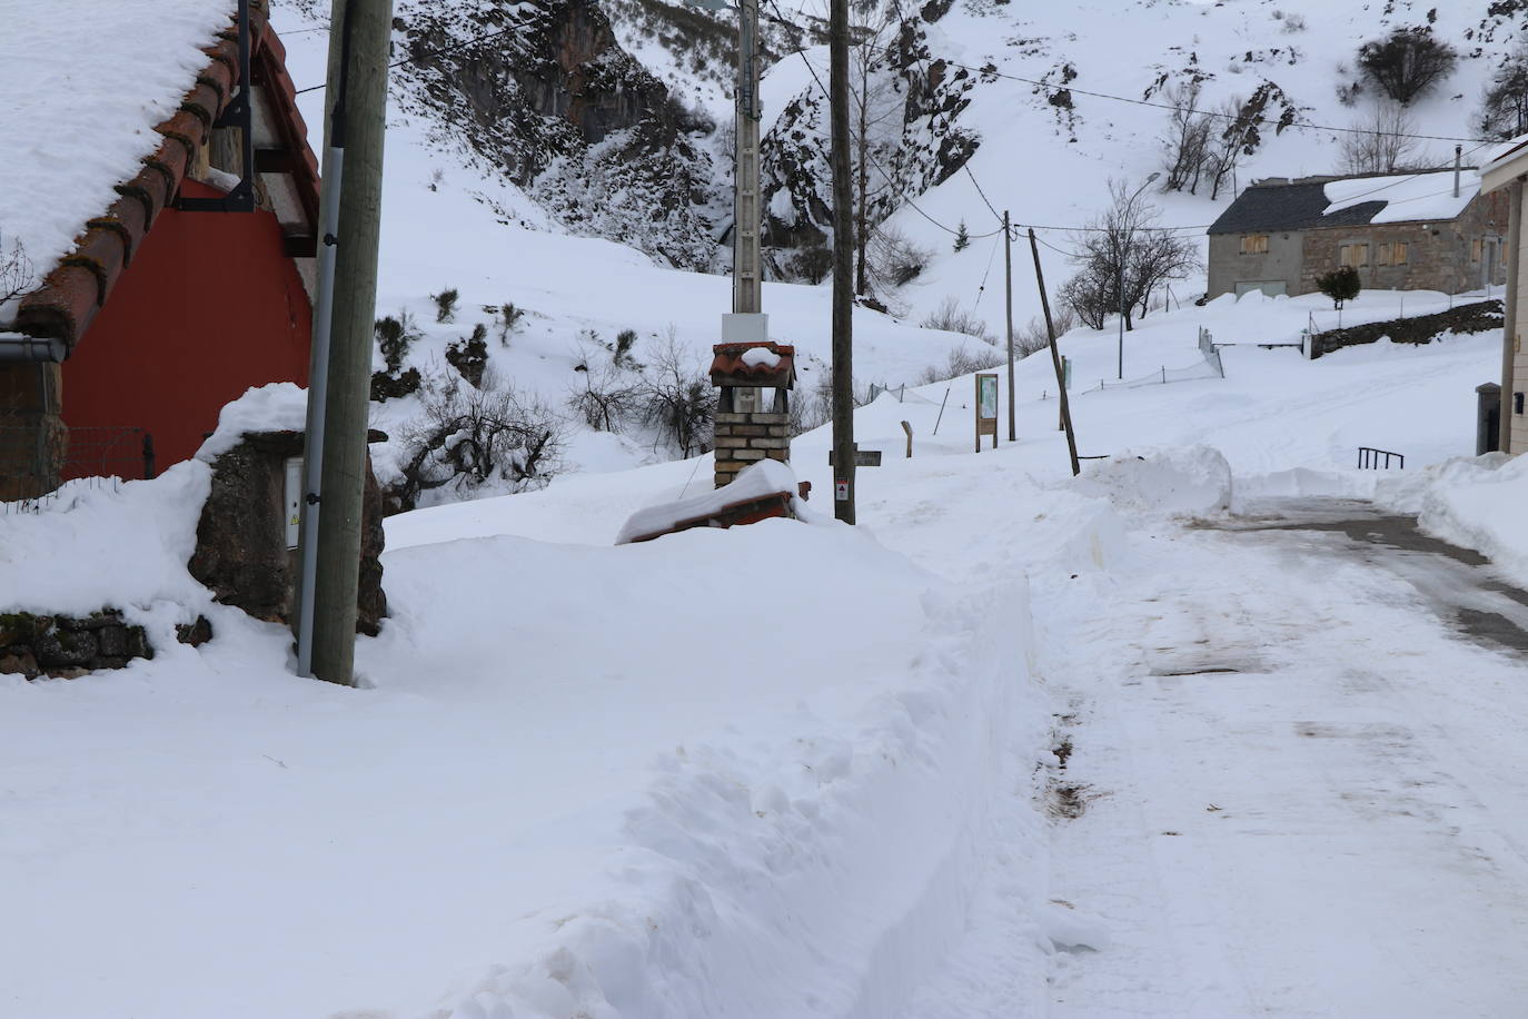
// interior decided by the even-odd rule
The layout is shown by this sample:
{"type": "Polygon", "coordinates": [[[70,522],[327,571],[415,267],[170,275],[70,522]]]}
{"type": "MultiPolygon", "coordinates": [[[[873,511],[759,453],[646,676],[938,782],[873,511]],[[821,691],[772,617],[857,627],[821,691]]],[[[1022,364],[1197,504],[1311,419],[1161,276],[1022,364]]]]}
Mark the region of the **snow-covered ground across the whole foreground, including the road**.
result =
{"type": "MultiPolygon", "coordinates": [[[[1199,312],[1225,339],[1236,307],[1293,304],[1199,312]]],[[[634,509],[694,495],[704,460],[391,518],[365,689],[293,678],[284,632],[220,607],[200,649],[8,681],[0,854],[28,880],[0,907],[28,923],[0,944],[0,1002],[1510,1014],[1520,663],[1319,541],[1167,516],[1372,489],[1348,443],[1390,402],[1389,442],[1456,454],[1459,390],[1496,342],[1229,347],[1225,379],[1079,393],[1083,451],[1146,460],[1077,481],[1028,359],[1024,438],[996,452],[972,452],[969,379],[862,408],[886,455],[856,530],[611,544],[634,509]]],[[[1132,344],[1132,364],[1198,356],[1172,318],[1132,344]]],[[[1079,373],[1112,367],[1109,336],[1068,345],[1079,373]]],[[[819,493],[825,454],[821,432],[795,446],[819,493]]],[[[6,600],[60,547],[44,532],[96,513],[79,570],[136,571],[115,593],[167,632],[200,469],[0,516],[6,600]]]]}

